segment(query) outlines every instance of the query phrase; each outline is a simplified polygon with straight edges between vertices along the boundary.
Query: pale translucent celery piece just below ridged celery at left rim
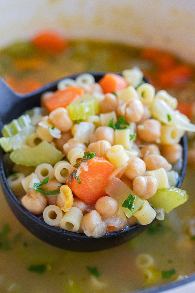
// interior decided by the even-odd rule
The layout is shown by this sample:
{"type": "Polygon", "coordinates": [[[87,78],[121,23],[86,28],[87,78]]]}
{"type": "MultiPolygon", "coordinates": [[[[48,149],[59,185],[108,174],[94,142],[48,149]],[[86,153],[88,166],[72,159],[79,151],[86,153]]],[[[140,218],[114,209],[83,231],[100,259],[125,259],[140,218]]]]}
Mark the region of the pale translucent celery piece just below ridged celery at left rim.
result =
{"type": "Polygon", "coordinates": [[[20,132],[11,137],[1,137],[0,146],[6,153],[12,150],[20,149],[26,144],[28,136],[34,131],[34,126],[27,125],[20,132]]]}

